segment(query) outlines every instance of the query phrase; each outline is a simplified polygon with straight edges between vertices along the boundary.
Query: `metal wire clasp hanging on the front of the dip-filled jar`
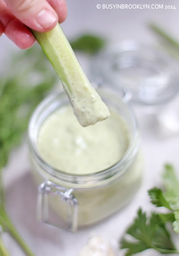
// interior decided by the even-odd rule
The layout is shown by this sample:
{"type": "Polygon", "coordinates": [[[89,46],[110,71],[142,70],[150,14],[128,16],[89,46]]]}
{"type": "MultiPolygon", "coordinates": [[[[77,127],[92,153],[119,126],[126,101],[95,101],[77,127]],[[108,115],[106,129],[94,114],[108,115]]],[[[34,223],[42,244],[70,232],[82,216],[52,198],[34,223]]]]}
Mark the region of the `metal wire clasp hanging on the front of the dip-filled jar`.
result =
{"type": "Polygon", "coordinates": [[[78,201],[72,195],[73,191],[73,188],[60,187],[50,181],[42,183],[38,187],[38,220],[71,232],[77,231],[78,201]]]}

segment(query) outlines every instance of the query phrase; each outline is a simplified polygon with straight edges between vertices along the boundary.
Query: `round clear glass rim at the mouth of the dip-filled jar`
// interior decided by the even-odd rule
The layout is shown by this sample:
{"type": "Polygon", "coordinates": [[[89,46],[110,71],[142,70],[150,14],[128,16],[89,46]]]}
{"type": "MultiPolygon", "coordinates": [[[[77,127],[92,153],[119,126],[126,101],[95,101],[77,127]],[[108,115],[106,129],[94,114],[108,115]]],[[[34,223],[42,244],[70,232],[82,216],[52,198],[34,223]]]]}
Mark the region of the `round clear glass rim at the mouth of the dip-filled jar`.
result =
{"type": "MultiPolygon", "coordinates": [[[[111,94],[111,90],[108,91],[107,88],[101,87],[101,88],[98,88],[97,91],[102,99],[105,96],[109,97],[111,94]]],[[[101,181],[101,180],[107,179],[109,176],[110,177],[113,176],[117,172],[118,173],[120,172],[120,174],[122,174],[125,171],[125,168],[123,168],[124,166],[126,166],[126,169],[127,169],[131,160],[133,159],[134,156],[136,156],[136,152],[138,151],[138,143],[137,143],[138,142],[138,133],[137,133],[136,119],[134,117],[134,114],[133,114],[130,106],[128,104],[126,104],[122,98],[119,98],[116,95],[116,93],[115,93],[115,95],[113,93],[114,92],[112,92],[112,94],[111,94],[113,97],[113,101],[116,100],[116,102],[117,102],[120,100],[122,105],[126,108],[128,114],[130,116],[132,126],[133,126],[130,143],[128,145],[126,152],[124,153],[124,156],[117,163],[115,163],[114,165],[112,165],[110,167],[107,167],[106,169],[102,169],[98,172],[95,171],[94,173],[90,173],[90,174],[72,174],[72,173],[69,173],[69,172],[67,173],[67,172],[64,172],[63,170],[53,167],[52,165],[50,165],[43,159],[43,157],[39,153],[38,148],[36,146],[37,136],[36,136],[36,133],[34,132],[35,126],[37,126],[36,121],[38,120],[38,118],[40,116],[43,115],[44,108],[47,108],[48,106],[50,106],[54,100],[57,100],[59,97],[66,97],[66,99],[68,100],[66,93],[63,91],[58,94],[51,94],[51,95],[47,96],[47,98],[45,98],[40,104],[38,104],[37,108],[34,110],[34,113],[32,114],[32,116],[30,118],[30,123],[29,123],[29,128],[28,128],[28,143],[29,143],[31,153],[35,157],[35,160],[38,162],[38,165],[40,165],[41,168],[43,168],[43,170],[45,170],[45,172],[47,174],[51,175],[54,178],[63,180],[64,182],[72,182],[72,183],[81,184],[81,183],[86,183],[86,182],[93,182],[94,180],[96,181],[97,176],[98,176],[98,181],[101,181]]],[[[68,103],[68,101],[67,101],[67,103],[68,103]]],[[[55,109],[57,109],[57,108],[55,108],[55,109]]],[[[46,118],[47,118],[47,116],[43,117],[42,122],[46,118]]]]}

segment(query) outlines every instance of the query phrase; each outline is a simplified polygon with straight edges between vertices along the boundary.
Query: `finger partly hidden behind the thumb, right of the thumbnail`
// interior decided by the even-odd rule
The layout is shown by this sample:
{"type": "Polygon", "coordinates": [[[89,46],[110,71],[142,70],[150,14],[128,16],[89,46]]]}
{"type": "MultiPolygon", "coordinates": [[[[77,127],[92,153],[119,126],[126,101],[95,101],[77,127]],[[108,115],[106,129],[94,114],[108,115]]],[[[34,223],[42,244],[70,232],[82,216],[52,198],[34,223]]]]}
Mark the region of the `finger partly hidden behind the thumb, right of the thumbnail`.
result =
{"type": "Polygon", "coordinates": [[[48,3],[53,7],[59,17],[59,22],[62,23],[67,17],[67,4],[65,0],[48,0],[48,3]]]}

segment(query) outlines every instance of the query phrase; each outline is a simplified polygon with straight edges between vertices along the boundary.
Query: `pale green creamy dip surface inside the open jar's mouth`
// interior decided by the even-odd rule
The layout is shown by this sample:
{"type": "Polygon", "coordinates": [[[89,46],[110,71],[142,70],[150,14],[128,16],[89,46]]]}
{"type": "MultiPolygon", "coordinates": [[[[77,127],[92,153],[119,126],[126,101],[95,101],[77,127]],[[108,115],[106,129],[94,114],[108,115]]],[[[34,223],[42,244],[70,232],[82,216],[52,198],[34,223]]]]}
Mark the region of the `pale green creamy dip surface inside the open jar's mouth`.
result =
{"type": "Polygon", "coordinates": [[[39,129],[37,147],[51,166],[71,174],[90,174],[118,162],[129,146],[126,123],[110,109],[111,116],[82,127],[70,105],[55,110],[39,129]]]}

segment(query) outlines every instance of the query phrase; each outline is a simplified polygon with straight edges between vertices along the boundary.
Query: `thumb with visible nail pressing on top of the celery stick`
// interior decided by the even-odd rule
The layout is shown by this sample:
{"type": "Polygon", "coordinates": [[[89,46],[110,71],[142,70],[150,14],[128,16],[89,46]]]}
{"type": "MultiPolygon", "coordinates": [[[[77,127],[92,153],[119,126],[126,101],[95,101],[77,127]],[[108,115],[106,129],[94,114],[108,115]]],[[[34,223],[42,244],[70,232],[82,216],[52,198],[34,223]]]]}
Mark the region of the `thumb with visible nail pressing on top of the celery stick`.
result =
{"type": "Polygon", "coordinates": [[[58,15],[46,0],[4,0],[13,15],[39,32],[52,29],[58,15]]]}

